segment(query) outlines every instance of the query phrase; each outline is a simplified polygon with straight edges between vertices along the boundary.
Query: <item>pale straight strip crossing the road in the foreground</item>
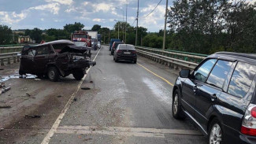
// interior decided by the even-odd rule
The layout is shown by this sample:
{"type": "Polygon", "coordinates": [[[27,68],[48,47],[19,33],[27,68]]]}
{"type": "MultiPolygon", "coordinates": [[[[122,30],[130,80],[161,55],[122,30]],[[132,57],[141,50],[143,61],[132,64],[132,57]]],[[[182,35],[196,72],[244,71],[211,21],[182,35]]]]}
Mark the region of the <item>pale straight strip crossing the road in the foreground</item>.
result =
{"type": "Polygon", "coordinates": [[[165,138],[171,135],[202,135],[195,130],[182,129],[157,129],[144,127],[96,127],[96,126],[61,126],[56,133],[60,134],[100,134],[100,135],[125,135],[138,137],[165,138]]]}

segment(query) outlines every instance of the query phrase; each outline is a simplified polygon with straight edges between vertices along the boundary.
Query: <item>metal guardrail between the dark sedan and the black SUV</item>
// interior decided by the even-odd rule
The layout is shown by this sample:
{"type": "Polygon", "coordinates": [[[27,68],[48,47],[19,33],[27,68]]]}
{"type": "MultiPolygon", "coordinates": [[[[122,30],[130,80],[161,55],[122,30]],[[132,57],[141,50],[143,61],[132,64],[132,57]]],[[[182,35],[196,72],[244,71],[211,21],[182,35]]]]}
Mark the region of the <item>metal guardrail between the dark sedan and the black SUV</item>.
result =
{"type": "Polygon", "coordinates": [[[139,55],[143,57],[148,57],[154,61],[158,61],[160,63],[165,63],[165,65],[169,65],[171,67],[184,67],[194,69],[199,62],[206,58],[207,55],[193,55],[193,54],[185,54],[172,52],[169,50],[159,50],[153,49],[143,46],[135,46],[139,55]]]}

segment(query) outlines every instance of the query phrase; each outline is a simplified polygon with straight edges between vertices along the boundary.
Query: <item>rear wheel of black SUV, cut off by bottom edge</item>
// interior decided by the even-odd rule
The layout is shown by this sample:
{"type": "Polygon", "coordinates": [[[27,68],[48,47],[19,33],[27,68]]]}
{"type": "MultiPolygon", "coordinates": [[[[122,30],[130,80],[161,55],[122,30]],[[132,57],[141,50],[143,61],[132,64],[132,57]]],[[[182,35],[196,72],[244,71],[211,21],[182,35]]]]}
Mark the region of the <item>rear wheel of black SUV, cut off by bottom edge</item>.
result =
{"type": "Polygon", "coordinates": [[[221,128],[221,123],[217,118],[214,118],[210,123],[210,128],[208,132],[209,143],[210,144],[221,144],[223,142],[223,131],[221,128]]]}

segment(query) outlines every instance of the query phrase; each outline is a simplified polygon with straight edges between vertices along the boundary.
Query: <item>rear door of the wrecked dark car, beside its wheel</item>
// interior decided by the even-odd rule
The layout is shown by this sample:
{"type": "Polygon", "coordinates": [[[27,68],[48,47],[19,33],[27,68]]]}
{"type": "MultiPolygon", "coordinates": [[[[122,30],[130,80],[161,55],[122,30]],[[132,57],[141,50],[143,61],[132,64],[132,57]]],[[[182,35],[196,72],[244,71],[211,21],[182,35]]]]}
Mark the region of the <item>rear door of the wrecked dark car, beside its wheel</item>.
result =
{"type": "Polygon", "coordinates": [[[34,68],[36,73],[43,73],[46,70],[46,65],[49,61],[50,46],[39,46],[35,50],[34,68]]]}

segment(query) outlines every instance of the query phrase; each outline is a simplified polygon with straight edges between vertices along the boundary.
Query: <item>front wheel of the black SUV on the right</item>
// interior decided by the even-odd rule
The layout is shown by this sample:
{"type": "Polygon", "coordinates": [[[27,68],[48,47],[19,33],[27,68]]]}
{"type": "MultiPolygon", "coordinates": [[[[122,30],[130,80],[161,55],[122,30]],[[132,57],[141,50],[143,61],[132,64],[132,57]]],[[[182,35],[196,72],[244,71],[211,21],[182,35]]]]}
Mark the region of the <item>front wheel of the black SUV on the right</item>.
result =
{"type": "Polygon", "coordinates": [[[182,120],[185,118],[184,112],[181,109],[180,94],[178,90],[175,90],[174,92],[172,112],[173,112],[173,117],[175,119],[182,120]]]}

